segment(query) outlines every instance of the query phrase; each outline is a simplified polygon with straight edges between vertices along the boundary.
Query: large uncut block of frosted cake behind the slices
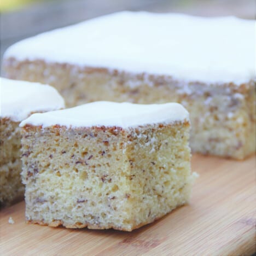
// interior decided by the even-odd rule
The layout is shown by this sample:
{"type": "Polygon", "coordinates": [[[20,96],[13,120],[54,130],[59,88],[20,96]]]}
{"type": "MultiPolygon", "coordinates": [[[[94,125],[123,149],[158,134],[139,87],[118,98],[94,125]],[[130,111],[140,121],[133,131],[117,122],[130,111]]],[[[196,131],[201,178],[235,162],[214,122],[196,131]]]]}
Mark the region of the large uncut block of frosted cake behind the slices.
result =
{"type": "Polygon", "coordinates": [[[110,14],[11,46],[9,78],[49,83],[67,106],[179,102],[193,152],[255,152],[255,21],[232,16],[110,14]]]}

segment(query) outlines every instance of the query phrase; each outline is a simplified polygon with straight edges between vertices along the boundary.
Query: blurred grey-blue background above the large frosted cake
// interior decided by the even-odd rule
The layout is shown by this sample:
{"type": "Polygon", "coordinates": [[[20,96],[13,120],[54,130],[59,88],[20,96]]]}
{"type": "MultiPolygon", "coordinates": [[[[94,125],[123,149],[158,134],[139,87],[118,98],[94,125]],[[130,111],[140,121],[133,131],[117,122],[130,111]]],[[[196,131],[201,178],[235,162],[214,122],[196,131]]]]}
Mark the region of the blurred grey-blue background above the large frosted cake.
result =
{"type": "Polygon", "coordinates": [[[9,45],[52,30],[121,10],[176,12],[255,19],[255,0],[0,0],[1,60],[9,45]]]}

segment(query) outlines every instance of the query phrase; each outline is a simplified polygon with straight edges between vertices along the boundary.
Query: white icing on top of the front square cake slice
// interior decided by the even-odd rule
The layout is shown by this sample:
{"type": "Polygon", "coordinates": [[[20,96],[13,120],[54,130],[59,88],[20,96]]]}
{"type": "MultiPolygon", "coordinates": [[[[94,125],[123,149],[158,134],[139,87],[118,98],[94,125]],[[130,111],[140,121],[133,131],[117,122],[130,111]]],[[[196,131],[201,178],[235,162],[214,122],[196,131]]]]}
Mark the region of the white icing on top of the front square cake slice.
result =
{"type": "Polygon", "coordinates": [[[189,120],[188,111],[178,103],[132,104],[96,101],[74,108],[31,115],[20,126],[31,124],[48,127],[118,126],[134,127],[146,124],[173,123],[189,120]]]}

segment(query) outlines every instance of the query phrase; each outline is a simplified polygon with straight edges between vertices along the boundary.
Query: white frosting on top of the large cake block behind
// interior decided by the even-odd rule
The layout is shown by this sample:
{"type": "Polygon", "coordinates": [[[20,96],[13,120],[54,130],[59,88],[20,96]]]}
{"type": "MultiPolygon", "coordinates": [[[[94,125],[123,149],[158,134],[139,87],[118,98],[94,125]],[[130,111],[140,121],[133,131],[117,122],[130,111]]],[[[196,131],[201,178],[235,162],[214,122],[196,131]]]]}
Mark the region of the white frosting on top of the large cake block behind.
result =
{"type": "Polygon", "coordinates": [[[255,77],[255,21],[124,11],[22,40],[4,57],[239,85],[255,77]]]}

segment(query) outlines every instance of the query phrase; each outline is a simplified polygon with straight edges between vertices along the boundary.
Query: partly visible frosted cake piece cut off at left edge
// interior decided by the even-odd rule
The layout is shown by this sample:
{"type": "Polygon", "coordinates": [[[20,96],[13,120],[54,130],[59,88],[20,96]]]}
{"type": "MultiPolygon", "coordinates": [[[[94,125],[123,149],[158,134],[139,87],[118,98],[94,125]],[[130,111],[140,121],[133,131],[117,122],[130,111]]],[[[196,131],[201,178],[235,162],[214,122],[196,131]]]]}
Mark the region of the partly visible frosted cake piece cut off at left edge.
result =
{"type": "Polygon", "coordinates": [[[24,198],[21,183],[20,121],[35,112],[64,107],[49,85],[0,78],[0,205],[24,198]]]}

